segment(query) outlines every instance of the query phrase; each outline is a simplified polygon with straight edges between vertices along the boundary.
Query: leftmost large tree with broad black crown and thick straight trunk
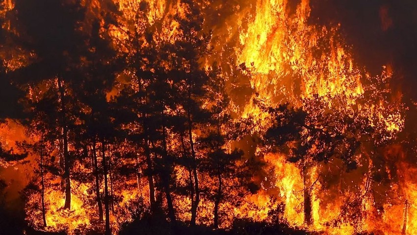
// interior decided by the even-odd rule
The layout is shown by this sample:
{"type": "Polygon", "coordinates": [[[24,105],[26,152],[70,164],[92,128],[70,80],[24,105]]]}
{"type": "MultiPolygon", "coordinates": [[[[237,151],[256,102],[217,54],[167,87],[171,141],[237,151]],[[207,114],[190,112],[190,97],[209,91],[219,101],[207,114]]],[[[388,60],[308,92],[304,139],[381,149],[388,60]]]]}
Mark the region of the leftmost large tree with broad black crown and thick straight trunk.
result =
{"type": "Polygon", "coordinates": [[[57,120],[62,139],[62,178],[65,184],[64,208],[71,208],[71,157],[68,150],[71,125],[69,83],[73,74],[71,66],[79,61],[79,48],[83,45],[77,25],[84,11],[79,2],[27,0],[15,2],[16,23],[21,37],[19,43],[36,54],[36,61],[18,69],[9,76],[26,84],[55,79],[56,101],[50,112],[59,113],[57,120]]]}

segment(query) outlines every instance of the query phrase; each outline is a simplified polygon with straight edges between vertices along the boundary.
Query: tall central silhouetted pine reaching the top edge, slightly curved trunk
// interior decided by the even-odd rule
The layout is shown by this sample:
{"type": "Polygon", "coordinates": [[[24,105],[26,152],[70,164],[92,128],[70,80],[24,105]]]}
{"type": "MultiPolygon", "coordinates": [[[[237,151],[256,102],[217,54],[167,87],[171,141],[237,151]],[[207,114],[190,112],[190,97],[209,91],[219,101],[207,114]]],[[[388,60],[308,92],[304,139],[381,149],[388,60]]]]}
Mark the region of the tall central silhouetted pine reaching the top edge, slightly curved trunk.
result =
{"type": "Polygon", "coordinates": [[[210,52],[211,35],[204,32],[201,6],[193,1],[183,0],[185,14],[176,16],[179,22],[179,35],[172,45],[168,45],[168,76],[174,81],[177,105],[177,130],[180,131],[183,157],[188,158],[188,169],[191,170],[190,188],[191,220],[195,225],[198,205],[200,203],[200,179],[198,144],[195,131],[209,123],[209,110],[205,108],[210,92],[210,78],[204,69],[202,58],[210,52]]]}

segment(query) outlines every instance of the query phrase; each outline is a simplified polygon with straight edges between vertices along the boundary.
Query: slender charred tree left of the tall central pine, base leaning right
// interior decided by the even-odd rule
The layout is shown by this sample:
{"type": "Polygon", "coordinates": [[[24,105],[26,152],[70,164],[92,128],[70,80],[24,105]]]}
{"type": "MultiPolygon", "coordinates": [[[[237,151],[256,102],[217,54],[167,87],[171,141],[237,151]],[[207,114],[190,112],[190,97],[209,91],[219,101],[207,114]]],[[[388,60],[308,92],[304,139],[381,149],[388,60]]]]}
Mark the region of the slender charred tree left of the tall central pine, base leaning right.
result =
{"type": "MultiPolygon", "coordinates": [[[[133,71],[131,86],[125,87],[121,91],[121,95],[117,98],[118,104],[125,105],[127,108],[121,109],[127,117],[123,121],[125,124],[134,125],[135,131],[128,131],[127,135],[129,140],[137,146],[142,153],[138,153],[137,157],[137,182],[140,182],[139,172],[143,172],[146,176],[146,180],[149,186],[149,204],[151,213],[155,213],[160,206],[156,200],[156,166],[152,156],[151,135],[154,127],[151,127],[152,118],[154,116],[153,104],[149,104],[148,101],[152,101],[150,96],[152,93],[157,93],[153,89],[154,75],[150,72],[152,69],[156,69],[159,65],[156,63],[158,53],[154,49],[154,44],[151,39],[148,38],[149,47],[144,49],[142,43],[144,43],[145,32],[149,30],[146,28],[146,14],[144,11],[138,11],[134,14],[134,22],[141,22],[142,24],[129,25],[134,30],[129,30],[129,40],[125,42],[125,47],[129,48],[130,54],[126,58],[126,68],[133,71]],[[143,161],[140,159],[143,156],[143,161]],[[144,167],[141,169],[140,163],[144,162],[144,167]]],[[[126,19],[125,19],[126,20],[126,19]]],[[[149,32],[148,32],[149,33],[149,32]]],[[[149,35],[148,35],[149,36],[149,35]]],[[[138,184],[139,189],[139,184],[138,184]]],[[[139,189],[140,190],[140,189],[139,189]]]]}

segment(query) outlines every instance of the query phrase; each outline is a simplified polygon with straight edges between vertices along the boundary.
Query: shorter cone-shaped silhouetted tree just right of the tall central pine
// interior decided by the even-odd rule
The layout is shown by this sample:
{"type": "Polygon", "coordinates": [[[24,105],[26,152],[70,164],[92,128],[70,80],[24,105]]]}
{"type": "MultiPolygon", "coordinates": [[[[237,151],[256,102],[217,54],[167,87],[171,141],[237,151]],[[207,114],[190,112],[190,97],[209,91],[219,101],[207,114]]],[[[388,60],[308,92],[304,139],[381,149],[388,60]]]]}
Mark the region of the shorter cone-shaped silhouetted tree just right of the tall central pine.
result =
{"type": "Polygon", "coordinates": [[[251,177],[253,169],[257,167],[251,159],[243,158],[242,150],[232,150],[233,141],[241,138],[243,131],[238,129],[231,117],[230,101],[225,91],[226,81],[220,74],[216,64],[208,71],[210,91],[206,94],[206,102],[210,115],[209,126],[202,130],[203,134],[198,140],[206,155],[202,159],[201,169],[209,178],[203,184],[204,197],[214,203],[213,226],[216,229],[220,225],[220,205],[226,203],[237,206],[241,198],[251,192],[251,177]]]}

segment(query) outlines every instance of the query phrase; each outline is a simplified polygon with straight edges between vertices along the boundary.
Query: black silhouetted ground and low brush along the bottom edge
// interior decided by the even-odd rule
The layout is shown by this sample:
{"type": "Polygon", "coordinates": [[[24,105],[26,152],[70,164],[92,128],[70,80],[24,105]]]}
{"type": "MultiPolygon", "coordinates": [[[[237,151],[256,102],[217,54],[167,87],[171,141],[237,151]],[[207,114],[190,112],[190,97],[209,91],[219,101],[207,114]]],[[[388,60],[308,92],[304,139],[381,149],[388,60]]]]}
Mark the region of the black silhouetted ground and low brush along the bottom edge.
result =
{"type": "MultiPolygon", "coordinates": [[[[37,231],[25,222],[23,209],[0,208],[0,235],[67,235],[66,232],[37,231]],[[20,213],[19,213],[20,211],[20,213]]],[[[77,235],[101,235],[99,231],[80,231],[77,235]]],[[[140,219],[122,225],[119,235],[320,235],[301,229],[291,228],[287,224],[255,222],[238,219],[228,229],[213,230],[212,227],[194,226],[179,222],[175,226],[166,220],[163,214],[144,215],[140,219]]],[[[365,235],[365,234],[362,234],[365,235]]]]}

